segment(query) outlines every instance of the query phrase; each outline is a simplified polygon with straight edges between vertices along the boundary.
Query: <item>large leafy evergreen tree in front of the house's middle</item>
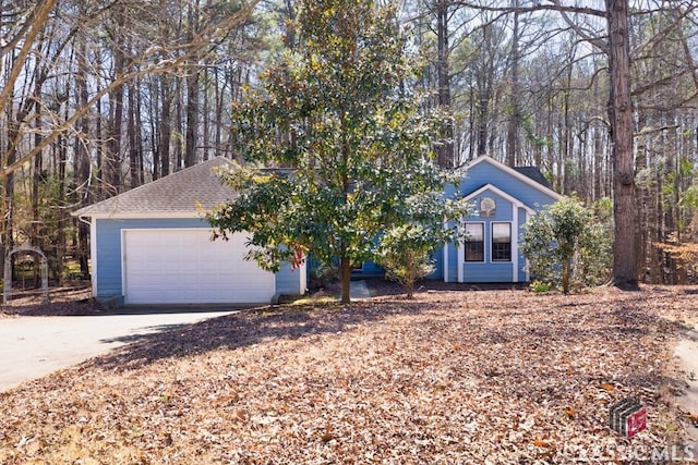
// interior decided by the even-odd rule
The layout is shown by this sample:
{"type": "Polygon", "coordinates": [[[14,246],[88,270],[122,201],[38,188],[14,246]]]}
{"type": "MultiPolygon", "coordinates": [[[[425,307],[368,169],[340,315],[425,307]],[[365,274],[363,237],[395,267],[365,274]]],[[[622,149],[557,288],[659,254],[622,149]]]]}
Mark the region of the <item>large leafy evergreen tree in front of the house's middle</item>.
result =
{"type": "Polygon", "coordinates": [[[376,257],[381,233],[441,227],[465,204],[443,196],[448,176],[431,151],[440,120],[410,90],[418,66],[393,8],[305,1],[289,32],[296,47],[234,108],[232,132],[249,161],[292,170],[228,174],[240,194],[208,219],[218,234],[248,231],[249,258],[266,269],[306,253],[337,266],[348,303],[351,270],[376,257]],[[435,205],[416,215],[424,197],[435,205]]]}

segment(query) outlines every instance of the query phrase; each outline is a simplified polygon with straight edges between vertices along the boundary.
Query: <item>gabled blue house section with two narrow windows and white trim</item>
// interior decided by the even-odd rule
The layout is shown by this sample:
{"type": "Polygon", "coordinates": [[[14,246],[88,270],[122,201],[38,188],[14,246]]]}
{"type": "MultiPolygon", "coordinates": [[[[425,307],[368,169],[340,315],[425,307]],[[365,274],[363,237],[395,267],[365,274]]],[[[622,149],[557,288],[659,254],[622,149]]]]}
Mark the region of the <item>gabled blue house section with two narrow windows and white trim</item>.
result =
{"type": "Polygon", "coordinates": [[[479,157],[461,168],[458,186],[473,205],[464,219],[466,240],[447,244],[436,256],[432,276],[445,282],[527,282],[519,243],[522,227],[535,211],[563,198],[534,167],[510,168],[479,157]]]}

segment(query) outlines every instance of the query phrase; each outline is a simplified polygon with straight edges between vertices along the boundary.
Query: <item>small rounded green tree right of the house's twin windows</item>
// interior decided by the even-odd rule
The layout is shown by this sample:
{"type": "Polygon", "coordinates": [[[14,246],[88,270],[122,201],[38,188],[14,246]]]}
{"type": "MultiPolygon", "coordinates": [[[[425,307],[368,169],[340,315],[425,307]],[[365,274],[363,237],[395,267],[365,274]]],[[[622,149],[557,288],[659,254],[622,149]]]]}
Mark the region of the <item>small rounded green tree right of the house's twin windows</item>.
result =
{"type": "Polygon", "coordinates": [[[586,284],[607,279],[610,224],[610,216],[595,218],[576,198],[566,197],[545,207],[524,227],[521,250],[529,260],[531,277],[559,283],[565,293],[574,277],[586,284]]]}

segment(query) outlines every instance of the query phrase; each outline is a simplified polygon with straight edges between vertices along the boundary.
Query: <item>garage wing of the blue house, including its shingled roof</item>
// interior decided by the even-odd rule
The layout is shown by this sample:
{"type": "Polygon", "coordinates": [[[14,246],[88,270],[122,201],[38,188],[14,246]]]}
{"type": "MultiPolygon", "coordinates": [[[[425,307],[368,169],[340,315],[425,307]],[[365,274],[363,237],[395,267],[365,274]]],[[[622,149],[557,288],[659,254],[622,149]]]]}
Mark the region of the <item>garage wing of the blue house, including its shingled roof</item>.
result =
{"type": "Polygon", "coordinates": [[[215,158],[72,215],[91,227],[93,295],[117,305],[257,304],[305,292],[305,266],[277,273],[244,260],[246,235],[212,241],[205,219],[233,197],[215,158]]]}

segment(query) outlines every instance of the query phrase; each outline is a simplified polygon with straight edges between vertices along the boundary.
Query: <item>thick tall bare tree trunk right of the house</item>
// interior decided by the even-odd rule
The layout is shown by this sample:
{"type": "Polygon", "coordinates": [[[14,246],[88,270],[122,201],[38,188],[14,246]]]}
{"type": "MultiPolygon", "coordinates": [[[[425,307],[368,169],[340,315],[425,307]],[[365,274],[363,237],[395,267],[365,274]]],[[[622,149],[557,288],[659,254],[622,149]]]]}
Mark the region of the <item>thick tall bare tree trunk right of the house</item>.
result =
{"type": "Polygon", "coordinates": [[[633,102],[627,0],[606,0],[609,14],[609,113],[613,137],[613,280],[618,286],[636,286],[635,171],[633,167],[633,102]]]}

